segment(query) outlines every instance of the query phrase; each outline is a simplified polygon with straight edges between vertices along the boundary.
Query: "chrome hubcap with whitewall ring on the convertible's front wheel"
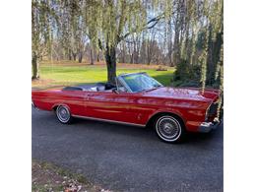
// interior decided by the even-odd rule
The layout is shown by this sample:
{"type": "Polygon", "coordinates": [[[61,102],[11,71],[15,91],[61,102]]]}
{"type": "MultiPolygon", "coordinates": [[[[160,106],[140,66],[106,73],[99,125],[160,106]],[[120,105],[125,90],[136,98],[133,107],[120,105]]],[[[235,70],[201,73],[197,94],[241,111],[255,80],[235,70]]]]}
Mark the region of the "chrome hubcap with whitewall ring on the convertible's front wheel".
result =
{"type": "Polygon", "coordinates": [[[162,117],[157,123],[160,137],[166,140],[173,140],[180,135],[180,125],[178,121],[171,117],[162,117]]]}

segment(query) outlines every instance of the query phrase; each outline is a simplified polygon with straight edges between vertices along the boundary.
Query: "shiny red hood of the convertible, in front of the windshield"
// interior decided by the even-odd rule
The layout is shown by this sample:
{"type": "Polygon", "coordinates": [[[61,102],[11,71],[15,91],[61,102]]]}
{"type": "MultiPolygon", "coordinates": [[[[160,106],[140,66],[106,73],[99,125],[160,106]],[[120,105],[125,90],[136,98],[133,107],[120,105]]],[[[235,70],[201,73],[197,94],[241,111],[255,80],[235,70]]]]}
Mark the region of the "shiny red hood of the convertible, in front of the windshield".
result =
{"type": "Polygon", "coordinates": [[[201,89],[196,88],[169,88],[162,87],[156,90],[148,91],[143,94],[144,96],[156,96],[166,98],[180,98],[180,99],[193,99],[193,100],[216,100],[219,96],[219,91],[214,89],[206,89],[203,93],[201,89]]]}

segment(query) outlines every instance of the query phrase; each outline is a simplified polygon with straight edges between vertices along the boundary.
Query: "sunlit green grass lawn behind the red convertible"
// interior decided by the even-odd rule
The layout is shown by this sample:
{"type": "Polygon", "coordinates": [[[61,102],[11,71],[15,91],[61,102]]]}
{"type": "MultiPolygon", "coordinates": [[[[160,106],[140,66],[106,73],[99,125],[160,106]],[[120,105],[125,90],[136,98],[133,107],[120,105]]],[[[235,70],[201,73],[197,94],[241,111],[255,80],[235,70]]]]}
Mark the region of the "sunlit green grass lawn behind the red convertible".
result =
{"type": "MultiPolygon", "coordinates": [[[[117,75],[122,73],[147,72],[150,76],[157,79],[164,86],[170,86],[174,68],[168,68],[167,71],[157,71],[147,65],[139,67],[127,67],[121,64],[117,65],[117,75]]],[[[74,85],[82,83],[96,83],[106,81],[105,65],[41,65],[40,79],[50,80],[47,86],[56,85],[74,85]]],[[[33,87],[37,87],[33,85],[33,87]]],[[[44,85],[45,86],[45,85],[44,85]]]]}

